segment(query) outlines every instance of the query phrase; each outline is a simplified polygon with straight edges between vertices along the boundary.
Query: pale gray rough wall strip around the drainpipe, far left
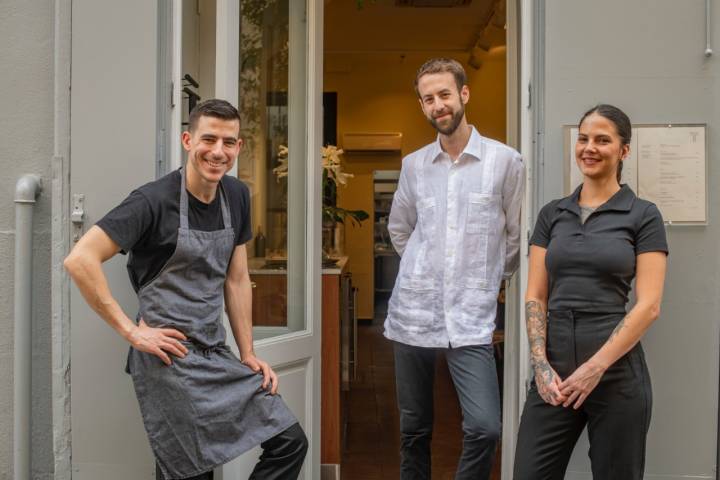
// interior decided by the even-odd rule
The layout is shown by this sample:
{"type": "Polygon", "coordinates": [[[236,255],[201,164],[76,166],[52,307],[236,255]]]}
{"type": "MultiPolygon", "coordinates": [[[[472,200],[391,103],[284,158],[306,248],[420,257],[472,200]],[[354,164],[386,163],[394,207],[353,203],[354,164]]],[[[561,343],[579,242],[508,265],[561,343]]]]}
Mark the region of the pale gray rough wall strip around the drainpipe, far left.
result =
{"type": "Polygon", "coordinates": [[[13,465],[13,275],[15,183],[42,177],[35,205],[32,355],[32,476],[52,478],[50,377],[50,195],[53,154],[54,2],[0,2],[0,479],[13,465]]]}

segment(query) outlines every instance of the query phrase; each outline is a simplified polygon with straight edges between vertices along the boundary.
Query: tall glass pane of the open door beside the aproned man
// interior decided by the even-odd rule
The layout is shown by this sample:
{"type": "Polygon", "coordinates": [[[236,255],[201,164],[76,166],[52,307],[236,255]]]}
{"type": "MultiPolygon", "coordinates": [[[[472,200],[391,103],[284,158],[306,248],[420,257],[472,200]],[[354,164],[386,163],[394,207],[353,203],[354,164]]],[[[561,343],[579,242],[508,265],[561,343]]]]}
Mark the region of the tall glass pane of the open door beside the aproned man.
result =
{"type": "Polygon", "coordinates": [[[305,3],[240,1],[238,178],[250,188],[255,339],[305,329],[305,3]]]}

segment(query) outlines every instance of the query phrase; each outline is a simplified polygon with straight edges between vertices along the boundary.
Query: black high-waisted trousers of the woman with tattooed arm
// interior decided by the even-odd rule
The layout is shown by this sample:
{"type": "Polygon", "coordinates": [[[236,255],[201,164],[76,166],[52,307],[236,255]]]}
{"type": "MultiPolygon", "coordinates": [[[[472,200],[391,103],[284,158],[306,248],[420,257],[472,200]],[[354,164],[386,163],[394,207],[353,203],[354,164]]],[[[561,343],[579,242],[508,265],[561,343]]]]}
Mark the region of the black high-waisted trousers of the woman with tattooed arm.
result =
{"type": "MultiPolygon", "coordinates": [[[[550,312],[548,360],[567,378],[607,341],[624,314],[550,312]]],[[[650,426],[652,390],[638,343],[603,375],[578,410],[553,407],[535,382],[520,421],[514,480],[562,480],[585,426],[594,480],[641,480],[650,426]]]]}

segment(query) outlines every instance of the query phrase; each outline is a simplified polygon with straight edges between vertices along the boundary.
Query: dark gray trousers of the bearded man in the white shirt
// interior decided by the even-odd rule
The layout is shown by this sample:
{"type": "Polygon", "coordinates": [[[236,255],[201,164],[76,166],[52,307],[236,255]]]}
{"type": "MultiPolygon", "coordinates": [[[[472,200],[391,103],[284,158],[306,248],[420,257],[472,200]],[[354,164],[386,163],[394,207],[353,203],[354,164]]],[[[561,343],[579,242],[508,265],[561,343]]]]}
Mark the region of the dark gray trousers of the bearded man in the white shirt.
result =
{"type": "Polygon", "coordinates": [[[455,478],[489,478],[500,438],[500,394],[492,346],[440,349],[395,342],[394,350],[400,410],[400,478],[430,479],[435,357],[441,350],[463,414],[463,452],[455,478]]]}

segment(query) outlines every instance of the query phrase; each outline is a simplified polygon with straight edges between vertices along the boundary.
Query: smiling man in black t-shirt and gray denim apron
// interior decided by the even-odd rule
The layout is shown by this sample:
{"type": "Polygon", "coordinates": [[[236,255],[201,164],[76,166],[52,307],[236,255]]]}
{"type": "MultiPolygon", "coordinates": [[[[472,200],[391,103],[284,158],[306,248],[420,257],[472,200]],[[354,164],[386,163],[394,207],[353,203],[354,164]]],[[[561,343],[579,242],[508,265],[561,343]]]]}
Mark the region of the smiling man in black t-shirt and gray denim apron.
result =
{"type": "Polygon", "coordinates": [[[133,191],[78,241],[65,267],[90,307],[130,343],[132,375],[157,478],[211,479],[261,445],[251,478],[297,478],[307,439],[253,351],[247,187],[225,174],[240,118],[208,100],[190,114],[187,165],[133,191]],[[112,296],[102,263],[128,253],[137,322],[112,296]],[[225,306],[242,360],[225,345],[225,306]]]}

